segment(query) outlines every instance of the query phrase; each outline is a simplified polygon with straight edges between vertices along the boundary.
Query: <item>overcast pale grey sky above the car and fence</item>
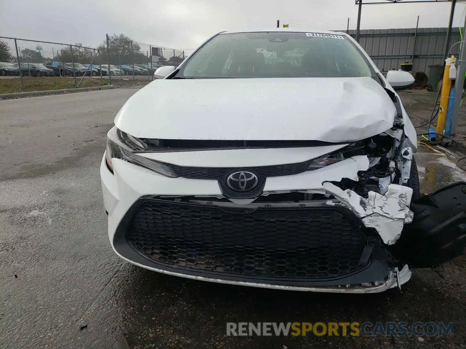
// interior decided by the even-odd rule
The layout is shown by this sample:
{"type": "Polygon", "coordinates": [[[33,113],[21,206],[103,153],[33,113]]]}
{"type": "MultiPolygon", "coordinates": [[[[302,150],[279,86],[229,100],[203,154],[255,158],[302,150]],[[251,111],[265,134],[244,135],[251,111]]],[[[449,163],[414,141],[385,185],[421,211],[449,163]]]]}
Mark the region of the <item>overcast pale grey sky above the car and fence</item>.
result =
{"type": "MultiPolygon", "coordinates": [[[[368,0],[364,0],[368,1],[368,0]]],[[[362,28],[446,27],[450,3],[367,5],[362,28]]],[[[464,13],[459,3],[453,24],[464,13]]],[[[354,0],[0,0],[0,35],[97,46],[105,34],[177,49],[222,30],[356,28],[354,0]]]]}

